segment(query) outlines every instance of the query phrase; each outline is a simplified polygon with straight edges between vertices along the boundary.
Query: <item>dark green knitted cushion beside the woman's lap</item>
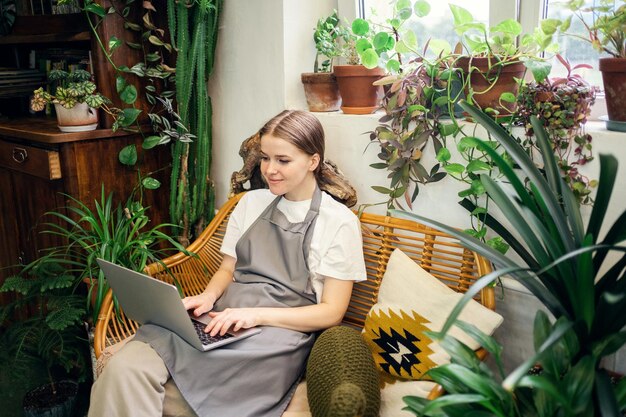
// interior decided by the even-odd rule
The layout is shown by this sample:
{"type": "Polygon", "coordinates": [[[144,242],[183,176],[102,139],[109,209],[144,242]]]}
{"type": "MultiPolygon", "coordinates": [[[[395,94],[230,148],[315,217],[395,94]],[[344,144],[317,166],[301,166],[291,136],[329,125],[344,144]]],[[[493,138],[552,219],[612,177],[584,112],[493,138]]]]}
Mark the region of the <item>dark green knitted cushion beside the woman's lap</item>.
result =
{"type": "Polygon", "coordinates": [[[361,334],[332,327],[317,339],[307,363],[313,417],[376,417],[380,409],[378,371],[361,334]]]}

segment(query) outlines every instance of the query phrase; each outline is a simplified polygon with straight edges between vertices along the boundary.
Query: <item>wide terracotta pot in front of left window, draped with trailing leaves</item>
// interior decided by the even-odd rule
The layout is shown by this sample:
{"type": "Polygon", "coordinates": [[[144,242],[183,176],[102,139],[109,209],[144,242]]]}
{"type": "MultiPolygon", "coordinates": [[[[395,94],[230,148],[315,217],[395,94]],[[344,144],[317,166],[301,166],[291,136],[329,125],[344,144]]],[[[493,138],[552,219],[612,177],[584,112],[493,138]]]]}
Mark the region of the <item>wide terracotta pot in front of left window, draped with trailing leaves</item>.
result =
{"type": "Polygon", "coordinates": [[[515,103],[502,102],[501,104],[500,96],[502,93],[509,92],[517,97],[519,85],[516,79],[524,77],[526,67],[522,62],[506,65],[497,65],[497,63],[497,58],[493,57],[461,57],[456,65],[465,74],[470,74],[471,91],[466,86],[466,94],[473,92],[472,100],[481,109],[490,107],[498,110],[500,116],[510,116],[515,111],[515,103]]]}

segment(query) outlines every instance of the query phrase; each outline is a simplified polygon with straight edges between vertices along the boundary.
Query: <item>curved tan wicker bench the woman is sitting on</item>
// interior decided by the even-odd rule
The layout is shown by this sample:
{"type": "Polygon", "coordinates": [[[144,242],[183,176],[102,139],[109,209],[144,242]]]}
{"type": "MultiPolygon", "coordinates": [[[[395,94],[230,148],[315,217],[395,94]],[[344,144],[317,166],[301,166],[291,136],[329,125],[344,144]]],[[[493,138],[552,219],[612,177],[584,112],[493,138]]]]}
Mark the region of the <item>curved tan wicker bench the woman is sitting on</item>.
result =
{"type": "MultiPolygon", "coordinates": [[[[167,282],[172,282],[172,276],[175,276],[185,295],[202,292],[220,265],[220,246],[228,216],[242,195],[226,202],[200,237],[187,248],[197,256],[178,253],[164,259],[162,264],[147,266],[145,272],[167,282]],[[165,272],[164,266],[168,272],[165,272]]],[[[430,227],[410,220],[368,213],[361,214],[360,220],[368,279],[354,285],[350,305],[343,319],[345,325],[363,328],[367,313],[377,301],[387,262],[395,248],[400,248],[422,268],[458,292],[465,292],[478,278],[491,272],[491,265],[486,259],[463,248],[449,235],[430,227]]],[[[495,309],[493,288],[483,289],[476,300],[487,308],[495,309]]],[[[116,319],[113,294],[109,291],[96,323],[96,357],[107,346],[133,335],[137,327],[137,323],[126,318],[123,313],[116,319]]],[[[480,350],[478,355],[484,358],[486,352],[480,350]]],[[[441,394],[441,388],[436,386],[429,398],[441,394]]]]}

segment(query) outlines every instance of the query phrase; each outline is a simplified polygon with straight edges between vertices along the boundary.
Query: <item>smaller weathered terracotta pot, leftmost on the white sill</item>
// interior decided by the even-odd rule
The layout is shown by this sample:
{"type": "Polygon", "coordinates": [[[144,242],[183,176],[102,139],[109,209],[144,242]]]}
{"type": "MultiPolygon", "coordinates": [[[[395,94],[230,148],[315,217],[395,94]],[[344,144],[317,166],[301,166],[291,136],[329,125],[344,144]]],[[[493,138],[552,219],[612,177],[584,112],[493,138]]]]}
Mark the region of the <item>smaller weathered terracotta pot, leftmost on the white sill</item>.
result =
{"type": "Polygon", "coordinates": [[[329,72],[305,72],[300,76],[309,111],[337,111],[341,96],[337,79],[329,72]]]}

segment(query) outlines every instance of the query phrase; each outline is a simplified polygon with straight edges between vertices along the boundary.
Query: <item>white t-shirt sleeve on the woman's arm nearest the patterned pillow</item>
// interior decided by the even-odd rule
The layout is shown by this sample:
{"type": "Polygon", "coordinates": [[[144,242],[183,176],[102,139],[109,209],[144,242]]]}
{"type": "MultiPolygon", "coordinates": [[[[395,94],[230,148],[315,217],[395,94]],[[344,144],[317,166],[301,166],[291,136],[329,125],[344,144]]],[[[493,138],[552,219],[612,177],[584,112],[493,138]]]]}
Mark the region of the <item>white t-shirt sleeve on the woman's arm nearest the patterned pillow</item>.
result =
{"type": "Polygon", "coordinates": [[[342,280],[367,279],[361,226],[356,216],[350,221],[343,222],[330,242],[328,250],[320,259],[316,273],[342,280]]]}

